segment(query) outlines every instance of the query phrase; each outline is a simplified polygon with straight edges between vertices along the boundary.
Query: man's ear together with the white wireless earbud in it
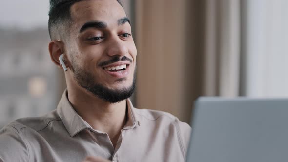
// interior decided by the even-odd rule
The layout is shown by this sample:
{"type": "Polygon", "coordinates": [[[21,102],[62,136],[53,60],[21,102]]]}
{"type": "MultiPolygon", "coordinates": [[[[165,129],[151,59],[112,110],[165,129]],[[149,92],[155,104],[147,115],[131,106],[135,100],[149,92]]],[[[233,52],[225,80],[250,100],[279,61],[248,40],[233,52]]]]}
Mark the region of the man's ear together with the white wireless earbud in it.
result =
{"type": "Polygon", "coordinates": [[[51,61],[59,68],[67,71],[68,61],[64,58],[63,43],[61,41],[50,41],[48,49],[51,61]]]}

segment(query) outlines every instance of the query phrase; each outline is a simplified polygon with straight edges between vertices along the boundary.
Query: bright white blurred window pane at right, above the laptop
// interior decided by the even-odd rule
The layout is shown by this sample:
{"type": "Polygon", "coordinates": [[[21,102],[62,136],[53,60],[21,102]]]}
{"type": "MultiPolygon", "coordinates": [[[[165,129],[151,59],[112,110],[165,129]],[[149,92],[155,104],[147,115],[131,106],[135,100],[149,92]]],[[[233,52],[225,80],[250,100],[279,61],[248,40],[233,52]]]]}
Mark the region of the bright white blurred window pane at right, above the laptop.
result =
{"type": "Polygon", "coordinates": [[[246,3],[247,96],[288,97],[288,1],[246,3]]]}

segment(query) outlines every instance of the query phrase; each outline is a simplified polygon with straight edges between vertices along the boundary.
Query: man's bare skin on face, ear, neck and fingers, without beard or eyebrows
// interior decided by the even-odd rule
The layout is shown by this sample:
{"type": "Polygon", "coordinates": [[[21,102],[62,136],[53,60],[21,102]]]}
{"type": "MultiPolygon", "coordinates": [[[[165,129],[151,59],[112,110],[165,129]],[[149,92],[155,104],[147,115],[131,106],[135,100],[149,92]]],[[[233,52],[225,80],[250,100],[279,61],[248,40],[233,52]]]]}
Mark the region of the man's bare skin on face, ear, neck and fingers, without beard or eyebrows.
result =
{"type": "MultiPolygon", "coordinates": [[[[87,91],[75,77],[77,70],[89,74],[89,81],[102,85],[110,90],[121,91],[132,86],[136,67],[137,50],[132,38],[131,26],[128,22],[119,24],[118,20],[125,18],[122,6],[116,0],[84,0],[71,7],[73,24],[66,39],[53,40],[49,43],[51,60],[62,68],[59,56],[64,53],[65,65],[68,71],[65,78],[68,99],[77,113],[87,121],[93,129],[106,132],[114,148],[126,121],[126,101],[107,102],[87,91]],[[105,28],[87,28],[80,32],[82,26],[91,21],[102,21],[105,28]],[[103,69],[103,62],[115,57],[126,57],[127,74],[113,76],[103,69]]],[[[113,65],[115,64],[113,63],[113,65]]],[[[111,64],[106,64],[109,66],[111,64]]],[[[77,76],[77,75],[76,75],[77,76]]],[[[82,77],[85,77],[83,75],[82,77]]],[[[101,162],[97,160],[86,160],[101,162]]]]}

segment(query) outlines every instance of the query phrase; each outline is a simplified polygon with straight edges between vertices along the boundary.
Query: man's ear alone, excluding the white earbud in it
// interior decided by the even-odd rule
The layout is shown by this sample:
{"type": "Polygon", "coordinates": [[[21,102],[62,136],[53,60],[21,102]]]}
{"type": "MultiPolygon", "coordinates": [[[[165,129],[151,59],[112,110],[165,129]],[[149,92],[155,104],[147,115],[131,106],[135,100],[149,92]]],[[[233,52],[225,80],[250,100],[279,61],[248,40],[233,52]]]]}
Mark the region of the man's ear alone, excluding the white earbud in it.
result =
{"type": "MultiPolygon", "coordinates": [[[[50,41],[49,45],[48,45],[48,49],[49,49],[49,53],[50,53],[50,58],[52,60],[52,62],[54,62],[59,68],[63,69],[60,61],[59,61],[59,57],[61,54],[64,53],[64,45],[62,41],[50,41]]],[[[64,63],[66,65],[66,67],[69,67],[69,61],[67,59],[67,57],[64,54],[64,63]]]]}

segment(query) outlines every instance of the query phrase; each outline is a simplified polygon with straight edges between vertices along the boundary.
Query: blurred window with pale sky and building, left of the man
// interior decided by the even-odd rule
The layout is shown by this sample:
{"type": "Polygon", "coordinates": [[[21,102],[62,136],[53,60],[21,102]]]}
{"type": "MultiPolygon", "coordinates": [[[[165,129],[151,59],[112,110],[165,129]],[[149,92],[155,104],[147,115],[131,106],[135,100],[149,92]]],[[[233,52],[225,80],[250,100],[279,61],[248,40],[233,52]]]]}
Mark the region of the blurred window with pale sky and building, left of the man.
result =
{"type": "Polygon", "coordinates": [[[49,0],[0,0],[0,127],[56,108],[57,68],[48,53],[49,0]]]}

